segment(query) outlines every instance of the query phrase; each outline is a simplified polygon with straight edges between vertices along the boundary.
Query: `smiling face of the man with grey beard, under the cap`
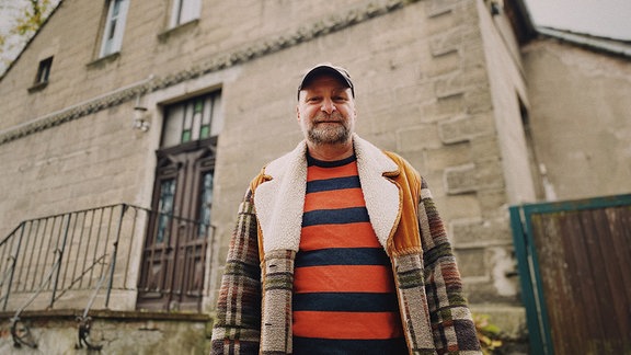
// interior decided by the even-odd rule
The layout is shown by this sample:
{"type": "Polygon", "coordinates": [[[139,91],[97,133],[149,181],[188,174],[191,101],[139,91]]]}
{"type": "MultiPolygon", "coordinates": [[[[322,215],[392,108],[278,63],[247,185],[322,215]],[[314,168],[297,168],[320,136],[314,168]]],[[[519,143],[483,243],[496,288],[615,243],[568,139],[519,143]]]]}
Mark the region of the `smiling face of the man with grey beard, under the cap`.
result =
{"type": "Polygon", "coordinates": [[[300,91],[297,112],[300,128],[311,144],[348,142],[355,131],[355,100],[351,89],[333,76],[317,77],[300,91]]]}

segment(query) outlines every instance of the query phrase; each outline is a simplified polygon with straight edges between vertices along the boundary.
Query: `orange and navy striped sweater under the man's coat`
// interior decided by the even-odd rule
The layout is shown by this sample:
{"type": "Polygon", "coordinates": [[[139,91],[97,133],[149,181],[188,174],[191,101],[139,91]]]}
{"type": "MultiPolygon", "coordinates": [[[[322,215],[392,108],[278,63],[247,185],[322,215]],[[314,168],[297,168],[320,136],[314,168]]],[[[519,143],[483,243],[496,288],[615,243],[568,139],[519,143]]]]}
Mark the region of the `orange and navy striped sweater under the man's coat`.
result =
{"type": "Polygon", "coordinates": [[[406,354],[392,266],[370,225],[356,157],[307,161],[294,354],[406,354]]]}

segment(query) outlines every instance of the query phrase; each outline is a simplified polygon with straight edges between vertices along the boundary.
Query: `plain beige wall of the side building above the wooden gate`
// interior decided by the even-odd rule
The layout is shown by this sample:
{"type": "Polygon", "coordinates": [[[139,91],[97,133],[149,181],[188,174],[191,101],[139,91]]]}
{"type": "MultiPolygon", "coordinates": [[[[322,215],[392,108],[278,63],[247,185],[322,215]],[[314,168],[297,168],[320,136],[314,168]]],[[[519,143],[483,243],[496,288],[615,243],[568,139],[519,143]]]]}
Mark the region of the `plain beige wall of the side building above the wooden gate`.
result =
{"type": "Polygon", "coordinates": [[[524,48],[524,62],[547,198],[631,192],[629,57],[542,37],[524,48]]]}

